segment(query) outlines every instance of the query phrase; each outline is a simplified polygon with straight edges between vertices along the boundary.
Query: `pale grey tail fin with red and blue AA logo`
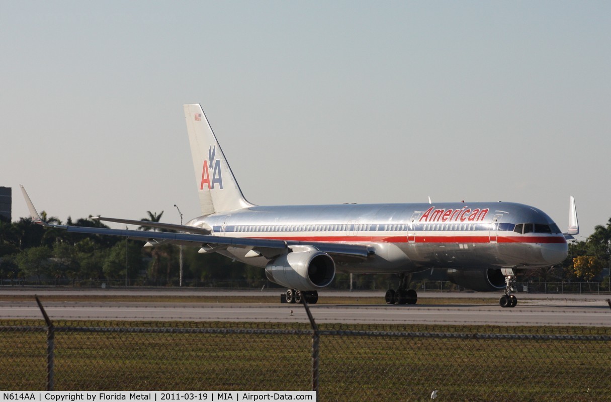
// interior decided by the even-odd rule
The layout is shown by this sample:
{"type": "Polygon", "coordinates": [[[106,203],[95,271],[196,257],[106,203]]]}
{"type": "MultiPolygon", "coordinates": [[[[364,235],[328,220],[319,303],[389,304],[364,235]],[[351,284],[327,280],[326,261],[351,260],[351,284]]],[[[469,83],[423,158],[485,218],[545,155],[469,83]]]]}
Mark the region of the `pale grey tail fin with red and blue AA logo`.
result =
{"type": "Polygon", "coordinates": [[[200,104],[185,104],[185,119],[202,214],[252,206],[243,196],[200,104]]]}

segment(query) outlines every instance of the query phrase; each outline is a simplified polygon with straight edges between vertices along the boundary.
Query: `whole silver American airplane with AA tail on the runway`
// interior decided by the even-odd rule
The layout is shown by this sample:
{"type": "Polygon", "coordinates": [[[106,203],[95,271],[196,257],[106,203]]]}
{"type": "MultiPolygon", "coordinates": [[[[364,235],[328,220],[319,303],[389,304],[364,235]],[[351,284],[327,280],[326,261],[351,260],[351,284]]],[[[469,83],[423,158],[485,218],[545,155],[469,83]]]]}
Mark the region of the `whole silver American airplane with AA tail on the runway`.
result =
{"type": "Polygon", "coordinates": [[[565,233],[538,208],[513,202],[254,205],[242,194],[200,104],[183,108],[202,216],[185,225],[147,222],[178,233],[48,224],[21,186],[32,220],[69,232],[142,239],[145,246],[196,246],[200,253],[264,268],[271,282],[287,288],[287,302],[312,304],[336,272],[398,274],[398,288],[387,290],[386,303],[416,304],[409,274],[444,269],[461,287],[503,291],[499,305],[515,307],[516,270],[562,263],[567,240],[579,234],[572,196],[565,233]]]}

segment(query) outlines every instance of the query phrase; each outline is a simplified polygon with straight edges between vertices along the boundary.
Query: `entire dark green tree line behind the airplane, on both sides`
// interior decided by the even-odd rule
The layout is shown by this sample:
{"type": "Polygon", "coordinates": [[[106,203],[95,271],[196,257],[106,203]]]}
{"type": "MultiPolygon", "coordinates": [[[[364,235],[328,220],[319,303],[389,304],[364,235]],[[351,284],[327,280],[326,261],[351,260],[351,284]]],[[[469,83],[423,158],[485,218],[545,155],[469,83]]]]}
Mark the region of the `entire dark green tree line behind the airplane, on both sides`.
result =
{"type": "MultiPolygon", "coordinates": [[[[161,213],[147,211],[139,230],[151,230],[147,222],[159,222],[161,213]]],[[[43,220],[61,225],[57,217],[41,213],[43,220]]],[[[88,218],[65,225],[108,228],[88,218]]],[[[162,244],[144,247],[144,241],[120,236],[72,233],[36,225],[29,217],[10,222],[0,216],[0,284],[46,283],[97,285],[111,282],[142,286],[177,286],[179,283],[178,246],[162,244]]],[[[585,241],[569,243],[569,255],[558,266],[524,270],[518,280],[541,282],[607,282],[604,268],[609,268],[611,218],[597,225],[585,241]]],[[[222,255],[199,254],[197,247],[183,247],[183,284],[210,286],[226,282],[228,286],[261,287],[271,285],[265,271],[244,265],[222,255]]],[[[348,276],[337,274],[332,286],[349,287],[348,276]]],[[[439,278],[437,278],[439,279],[439,278]]],[[[357,288],[386,288],[388,275],[356,276],[357,288]]],[[[414,280],[418,280],[417,277],[414,280]]]]}

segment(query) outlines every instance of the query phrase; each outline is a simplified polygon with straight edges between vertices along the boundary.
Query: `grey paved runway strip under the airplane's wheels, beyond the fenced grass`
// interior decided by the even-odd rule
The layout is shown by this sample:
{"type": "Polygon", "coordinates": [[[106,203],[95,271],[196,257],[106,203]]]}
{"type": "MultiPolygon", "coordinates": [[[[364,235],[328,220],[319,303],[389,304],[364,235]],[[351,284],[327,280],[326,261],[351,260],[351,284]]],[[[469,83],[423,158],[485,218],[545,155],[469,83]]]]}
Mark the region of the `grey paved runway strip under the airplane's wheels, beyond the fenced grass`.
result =
{"type": "MultiPolygon", "coordinates": [[[[82,291],[80,291],[82,294],[82,291]]],[[[132,291],[133,292],[133,291],[132,291]]],[[[158,290],[155,290],[159,294],[158,290]]],[[[235,295],[235,291],[229,291],[235,295]]],[[[246,291],[249,294],[252,292],[246,291]]],[[[5,294],[5,292],[0,292],[5,294]]],[[[37,291],[43,294],[42,291],[37,291]]],[[[96,291],[97,293],[97,291],[96,291]]],[[[371,296],[371,292],[364,292],[371,296]]],[[[20,293],[23,294],[23,293],[20,293]]],[[[53,294],[57,294],[53,291],[53,294]]],[[[125,294],[125,293],[123,293],[125,294]]],[[[140,294],[140,293],[139,293],[140,294]]],[[[219,295],[223,293],[218,293],[219,295]]],[[[279,291],[273,291],[279,294],[279,291]]],[[[473,293],[471,293],[473,294],[473,293]]],[[[357,296],[351,293],[351,296],[357,296]]],[[[429,294],[423,295],[430,297],[429,294]]],[[[447,296],[447,294],[444,294],[447,296]]],[[[482,294],[477,294],[478,298],[482,294]]],[[[488,296],[488,295],[486,295],[488,296]]],[[[519,295],[518,306],[502,309],[491,304],[310,305],[317,323],[370,324],[491,324],[609,326],[611,309],[606,295],[519,295]]],[[[464,295],[461,295],[464,298],[464,295]]],[[[169,302],[45,302],[51,320],[147,320],[147,321],[264,321],[307,323],[304,307],[298,304],[257,303],[169,303],[169,302]]],[[[42,318],[35,301],[0,301],[0,318],[42,318]]]]}

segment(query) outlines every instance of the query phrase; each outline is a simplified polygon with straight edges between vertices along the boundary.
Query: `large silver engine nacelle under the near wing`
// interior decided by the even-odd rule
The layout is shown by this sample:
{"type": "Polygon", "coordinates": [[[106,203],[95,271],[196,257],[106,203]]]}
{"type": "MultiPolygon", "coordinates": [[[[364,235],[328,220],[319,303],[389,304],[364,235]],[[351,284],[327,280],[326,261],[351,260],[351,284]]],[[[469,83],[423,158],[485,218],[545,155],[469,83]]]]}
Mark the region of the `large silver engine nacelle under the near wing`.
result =
{"type": "Polygon", "coordinates": [[[335,277],[333,258],[313,247],[300,247],[269,261],[265,276],[271,282],[289,289],[318,290],[326,287],[335,277]]]}

